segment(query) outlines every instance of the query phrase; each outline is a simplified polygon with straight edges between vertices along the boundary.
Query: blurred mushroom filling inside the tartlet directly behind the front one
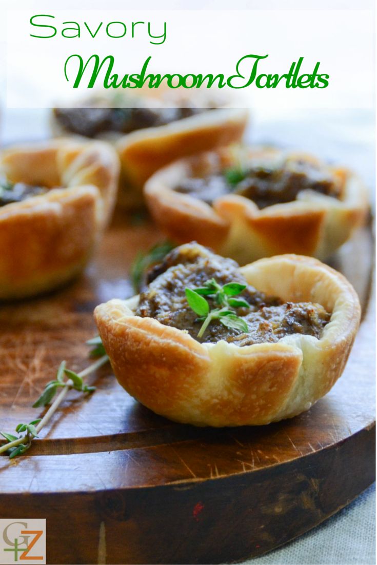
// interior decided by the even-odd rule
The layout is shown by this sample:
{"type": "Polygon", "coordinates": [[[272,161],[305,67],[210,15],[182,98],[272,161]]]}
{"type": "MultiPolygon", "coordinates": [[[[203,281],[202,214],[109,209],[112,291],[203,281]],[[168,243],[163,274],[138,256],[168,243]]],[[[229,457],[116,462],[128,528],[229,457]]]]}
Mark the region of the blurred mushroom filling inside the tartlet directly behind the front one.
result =
{"type": "Polygon", "coordinates": [[[255,164],[246,169],[228,169],[215,175],[192,177],[175,187],[176,192],[212,204],[229,193],[253,200],[258,208],[296,200],[301,190],[315,190],[340,198],[341,186],[325,166],[301,158],[287,158],[273,166],[255,164]]]}

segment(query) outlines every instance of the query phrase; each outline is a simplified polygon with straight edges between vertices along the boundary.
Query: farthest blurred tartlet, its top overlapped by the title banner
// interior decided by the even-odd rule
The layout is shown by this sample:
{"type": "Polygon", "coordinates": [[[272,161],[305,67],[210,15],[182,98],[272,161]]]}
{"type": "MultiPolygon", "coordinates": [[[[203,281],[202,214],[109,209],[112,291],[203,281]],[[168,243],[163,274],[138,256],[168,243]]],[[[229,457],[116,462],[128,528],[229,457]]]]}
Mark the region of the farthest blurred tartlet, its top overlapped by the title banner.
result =
{"type": "MultiPolygon", "coordinates": [[[[102,138],[115,144],[122,174],[119,203],[132,208],[143,203],[142,187],[158,169],[197,151],[208,151],[241,140],[248,120],[244,109],[216,106],[206,99],[200,106],[187,100],[141,96],[128,98],[128,106],[103,98],[86,107],[55,108],[53,129],[58,134],[102,138]],[[184,105],[185,107],[180,107],[184,105]]],[[[84,103],[84,102],[83,102],[84,103]]]]}

